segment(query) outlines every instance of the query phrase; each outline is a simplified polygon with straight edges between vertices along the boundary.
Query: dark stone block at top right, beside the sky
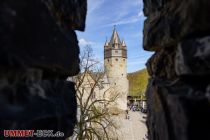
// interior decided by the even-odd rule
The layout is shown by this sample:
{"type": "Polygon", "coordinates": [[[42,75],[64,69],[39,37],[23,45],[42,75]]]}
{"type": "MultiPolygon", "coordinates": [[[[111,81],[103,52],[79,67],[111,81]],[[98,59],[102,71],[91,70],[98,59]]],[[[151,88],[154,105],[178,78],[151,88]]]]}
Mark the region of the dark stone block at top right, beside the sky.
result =
{"type": "Polygon", "coordinates": [[[209,0],[145,0],[144,49],[155,51],[184,38],[208,35],[209,7],[209,0]]]}

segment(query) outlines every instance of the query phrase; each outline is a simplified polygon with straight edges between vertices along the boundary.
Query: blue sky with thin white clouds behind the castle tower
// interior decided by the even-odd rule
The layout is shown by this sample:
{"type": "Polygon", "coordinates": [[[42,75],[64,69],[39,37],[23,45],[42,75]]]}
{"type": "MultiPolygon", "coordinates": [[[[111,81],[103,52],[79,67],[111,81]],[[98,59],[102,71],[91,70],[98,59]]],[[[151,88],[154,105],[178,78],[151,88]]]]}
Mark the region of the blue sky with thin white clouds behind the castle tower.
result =
{"type": "Polygon", "coordinates": [[[103,47],[116,29],[128,49],[128,72],[145,68],[151,52],[142,49],[143,32],[142,0],[88,0],[85,32],[77,32],[80,49],[93,48],[94,57],[103,63],[103,47]]]}

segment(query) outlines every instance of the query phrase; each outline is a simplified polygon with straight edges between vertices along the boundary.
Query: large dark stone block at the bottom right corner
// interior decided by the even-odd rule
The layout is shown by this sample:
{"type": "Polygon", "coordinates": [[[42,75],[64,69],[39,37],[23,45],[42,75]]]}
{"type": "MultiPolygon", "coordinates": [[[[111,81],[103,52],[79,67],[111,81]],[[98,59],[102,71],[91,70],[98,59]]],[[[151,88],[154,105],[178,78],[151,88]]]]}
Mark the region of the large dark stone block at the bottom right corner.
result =
{"type": "Polygon", "coordinates": [[[196,90],[182,82],[150,80],[147,89],[149,139],[210,139],[209,86],[196,90]]]}

